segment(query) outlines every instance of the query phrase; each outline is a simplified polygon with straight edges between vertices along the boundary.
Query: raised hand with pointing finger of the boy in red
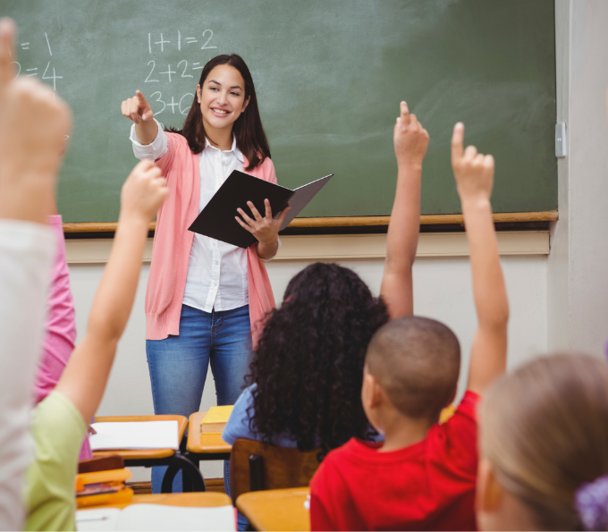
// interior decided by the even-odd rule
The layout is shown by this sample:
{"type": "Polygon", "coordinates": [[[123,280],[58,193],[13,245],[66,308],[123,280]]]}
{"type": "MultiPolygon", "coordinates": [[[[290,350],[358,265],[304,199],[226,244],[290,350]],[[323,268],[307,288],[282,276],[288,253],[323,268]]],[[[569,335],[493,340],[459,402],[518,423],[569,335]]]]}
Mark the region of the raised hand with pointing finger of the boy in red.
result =
{"type": "Polygon", "coordinates": [[[462,150],[464,124],[458,122],[452,134],[452,170],[460,200],[486,199],[492,196],[494,157],[477,153],[475,146],[462,150]]]}

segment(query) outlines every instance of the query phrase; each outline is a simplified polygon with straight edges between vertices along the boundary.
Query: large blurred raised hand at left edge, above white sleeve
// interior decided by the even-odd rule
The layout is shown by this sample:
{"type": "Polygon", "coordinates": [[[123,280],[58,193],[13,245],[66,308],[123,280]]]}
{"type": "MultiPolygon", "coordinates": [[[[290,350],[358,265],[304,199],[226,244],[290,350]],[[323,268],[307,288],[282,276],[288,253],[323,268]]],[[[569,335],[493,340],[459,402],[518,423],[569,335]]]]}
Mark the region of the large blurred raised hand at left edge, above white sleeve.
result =
{"type": "Polygon", "coordinates": [[[72,117],[52,89],[17,78],[15,25],[0,21],[0,217],[46,223],[72,117]]]}

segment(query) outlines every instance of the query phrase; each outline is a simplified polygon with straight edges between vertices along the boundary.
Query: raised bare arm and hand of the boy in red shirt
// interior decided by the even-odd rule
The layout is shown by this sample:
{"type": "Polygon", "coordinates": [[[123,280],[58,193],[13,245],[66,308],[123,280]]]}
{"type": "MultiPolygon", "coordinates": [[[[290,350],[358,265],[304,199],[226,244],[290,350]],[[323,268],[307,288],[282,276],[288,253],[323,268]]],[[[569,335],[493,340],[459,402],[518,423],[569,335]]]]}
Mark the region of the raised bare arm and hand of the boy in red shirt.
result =
{"type": "Polygon", "coordinates": [[[506,367],[509,301],[490,204],[494,157],[478,154],[474,146],[463,152],[463,139],[464,124],[459,122],[452,136],[452,169],[469,241],[478,320],[471,347],[468,387],[475,393],[484,393],[506,367]]]}

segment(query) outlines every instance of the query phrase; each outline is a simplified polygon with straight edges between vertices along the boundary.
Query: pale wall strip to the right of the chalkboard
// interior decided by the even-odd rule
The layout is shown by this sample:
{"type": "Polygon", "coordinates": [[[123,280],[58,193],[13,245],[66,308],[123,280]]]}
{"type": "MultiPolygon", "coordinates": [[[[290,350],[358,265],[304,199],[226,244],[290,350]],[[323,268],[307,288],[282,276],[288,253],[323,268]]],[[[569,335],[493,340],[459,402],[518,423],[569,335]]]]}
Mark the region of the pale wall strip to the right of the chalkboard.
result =
{"type": "Polygon", "coordinates": [[[603,356],[608,338],[608,2],[556,0],[560,219],[548,261],[548,347],[603,356]]]}

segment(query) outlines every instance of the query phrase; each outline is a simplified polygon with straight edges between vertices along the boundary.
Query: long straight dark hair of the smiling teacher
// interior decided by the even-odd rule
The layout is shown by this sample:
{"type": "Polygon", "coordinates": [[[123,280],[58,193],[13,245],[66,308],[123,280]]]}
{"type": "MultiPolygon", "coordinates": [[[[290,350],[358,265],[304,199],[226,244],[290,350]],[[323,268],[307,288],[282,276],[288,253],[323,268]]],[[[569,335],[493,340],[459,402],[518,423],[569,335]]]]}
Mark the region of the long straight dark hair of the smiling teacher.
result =
{"type": "MultiPolygon", "coordinates": [[[[249,72],[249,68],[247,68],[247,64],[245,64],[241,55],[217,55],[207,62],[205,68],[203,68],[203,72],[200,73],[198,85],[200,85],[201,89],[203,83],[207,80],[209,72],[219,64],[233,66],[241,72],[241,76],[245,80],[245,100],[249,97],[249,105],[245,109],[245,112],[232,124],[232,132],[234,133],[237,147],[249,161],[247,170],[253,170],[256,166],[263,163],[266,157],[270,157],[270,148],[266,139],[266,133],[262,127],[262,119],[259,117],[258,97],[256,96],[256,88],[253,85],[251,72],[249,72]]],[[[186,116],[186,121],[183,122],[182,129],[168,128],[167,131],[183,135],[188,140],[188,146],[190,146],[192,153],[198,154],[205,149],[206,133],[196,94],[192,100],[190,112],[186,116]]]]}

